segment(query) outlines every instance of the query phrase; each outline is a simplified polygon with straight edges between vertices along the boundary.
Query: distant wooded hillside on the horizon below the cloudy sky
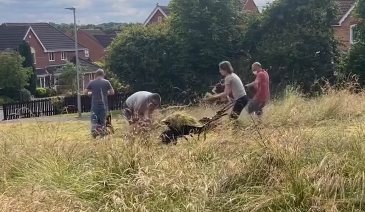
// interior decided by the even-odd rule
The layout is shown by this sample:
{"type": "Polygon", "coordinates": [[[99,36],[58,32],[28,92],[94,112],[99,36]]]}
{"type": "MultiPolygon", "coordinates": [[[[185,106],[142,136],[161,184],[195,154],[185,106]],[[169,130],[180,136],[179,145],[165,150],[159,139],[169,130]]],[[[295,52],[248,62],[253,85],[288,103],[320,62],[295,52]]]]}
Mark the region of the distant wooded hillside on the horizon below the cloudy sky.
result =
{"type": "MultiPolygon", "coordinates": [[[[56,24],[53,22],[50,22],[51,25],[53,25],[54,27],[56,27],[58,30],[73,30],[73,24],[65,24],[65,23],[61,23],[61,24],[56,24]]],[[[87,25],[78,25],[77,27],[79,29],[82,30],[86,30],[86,29],[91,29],[91,30],[96,30],[99,29],[103,32],[106,33],[112,33],[115,31],[119,31],[121,27],[123,27],[124,25],[127,25],[127,23],[115,23],[115,22],[109,22],[109,23],[103,23],[103,24],[87,24],[87,25]]]]}

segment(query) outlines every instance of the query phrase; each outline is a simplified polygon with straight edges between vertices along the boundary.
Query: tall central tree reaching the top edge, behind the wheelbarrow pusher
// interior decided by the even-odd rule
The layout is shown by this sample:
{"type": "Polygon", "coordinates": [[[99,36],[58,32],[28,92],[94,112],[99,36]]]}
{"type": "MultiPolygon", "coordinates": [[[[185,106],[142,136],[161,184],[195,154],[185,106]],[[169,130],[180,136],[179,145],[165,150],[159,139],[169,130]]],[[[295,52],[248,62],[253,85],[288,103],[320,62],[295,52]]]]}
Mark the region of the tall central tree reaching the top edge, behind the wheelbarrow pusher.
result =
{"type": "Polygon", "coordinates": [[[245,56],[241,51],[245,35],[243,1],[172,0],[169,9],[171,29],[186,56],[184,69],[189,88],[202,92],[222,77],[219,62],[245,56]]]}

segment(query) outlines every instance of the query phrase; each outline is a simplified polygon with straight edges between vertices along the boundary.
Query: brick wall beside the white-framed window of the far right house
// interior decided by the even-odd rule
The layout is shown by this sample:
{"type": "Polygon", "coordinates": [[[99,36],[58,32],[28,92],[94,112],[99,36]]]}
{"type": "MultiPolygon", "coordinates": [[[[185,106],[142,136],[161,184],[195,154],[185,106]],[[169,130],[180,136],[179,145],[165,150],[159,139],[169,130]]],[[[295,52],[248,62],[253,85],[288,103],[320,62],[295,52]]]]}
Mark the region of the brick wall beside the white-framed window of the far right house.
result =
{"type": "Polygon", "coordinates": [[[351,25],[356,24],[356,20],[349,15],[340,27],[334,27],[335,36],[339,38],[343,45],[339,46],[340,50],[347,51],[350,47],[350,30],[351,25]]]}

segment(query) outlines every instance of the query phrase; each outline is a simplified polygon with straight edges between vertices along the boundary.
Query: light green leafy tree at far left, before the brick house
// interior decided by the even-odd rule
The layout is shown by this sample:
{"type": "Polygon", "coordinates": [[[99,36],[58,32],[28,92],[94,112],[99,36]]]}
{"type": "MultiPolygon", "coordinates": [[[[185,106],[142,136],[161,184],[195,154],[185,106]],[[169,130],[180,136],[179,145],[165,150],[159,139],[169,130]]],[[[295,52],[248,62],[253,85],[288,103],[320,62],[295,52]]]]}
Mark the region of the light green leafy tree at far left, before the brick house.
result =
{"type": "Polygon", "coordinates": [[[12,93],[28,85],[31,68],[24,68],[24,58],[18,52],[0,53],[0,88],[12,93]]]}

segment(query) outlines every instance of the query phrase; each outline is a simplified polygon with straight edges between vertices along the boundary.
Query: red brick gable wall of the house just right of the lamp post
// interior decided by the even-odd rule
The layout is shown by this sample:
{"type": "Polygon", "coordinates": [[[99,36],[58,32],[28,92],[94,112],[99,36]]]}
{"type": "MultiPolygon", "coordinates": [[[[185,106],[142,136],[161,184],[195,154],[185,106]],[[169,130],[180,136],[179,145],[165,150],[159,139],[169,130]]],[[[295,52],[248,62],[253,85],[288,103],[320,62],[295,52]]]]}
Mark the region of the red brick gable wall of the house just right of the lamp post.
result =
{"type": "Polygon", "coordinates": [[[104,47],[90,38],[82,31],[77,32],[77,41],[89,49],[89,55],[93,61],[100,61],[104,58],[104,47]]]}

